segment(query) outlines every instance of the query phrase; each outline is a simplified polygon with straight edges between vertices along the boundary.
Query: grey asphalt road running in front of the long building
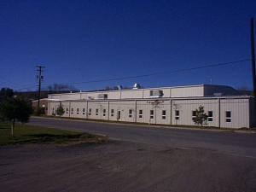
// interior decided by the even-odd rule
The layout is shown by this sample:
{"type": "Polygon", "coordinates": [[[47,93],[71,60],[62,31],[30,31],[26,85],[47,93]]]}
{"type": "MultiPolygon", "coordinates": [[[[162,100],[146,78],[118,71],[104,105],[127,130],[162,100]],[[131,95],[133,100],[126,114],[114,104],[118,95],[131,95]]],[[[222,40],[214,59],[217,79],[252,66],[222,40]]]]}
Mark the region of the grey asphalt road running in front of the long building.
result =
{"type": "Polygon", "coordinates": [[[256,159],[256,134],[253,133],[201,131],[38,117],[32,117],[29,124],[103,134],[114,140],[164,147],[201,148],[216,153],[234,154],[256,159]]]}

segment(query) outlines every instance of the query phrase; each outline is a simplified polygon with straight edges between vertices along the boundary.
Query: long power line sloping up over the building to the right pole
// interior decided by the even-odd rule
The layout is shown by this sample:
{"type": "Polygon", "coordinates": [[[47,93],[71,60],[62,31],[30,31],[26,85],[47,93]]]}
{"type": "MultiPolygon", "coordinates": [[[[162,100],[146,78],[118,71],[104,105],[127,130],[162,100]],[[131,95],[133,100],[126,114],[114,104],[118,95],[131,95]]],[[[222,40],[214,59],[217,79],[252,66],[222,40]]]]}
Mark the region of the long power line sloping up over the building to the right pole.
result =
{"type": "MultiPolygon", "coordinates": [[[[99,79],[99,80],[93,80],[93,81],[73,82],[73,83],[67,83],[67,84],[90,84],[90,83],[98,83],[98,82],[102,82],[102,81],[143,78],[143,77],[154,76],[154,75],[162,75],[162,74],[168,74],[168,73],[178,73],[178,72],[192,71],[192,70],[202,69],[202,68],[219,67],[219,66],[230,65],[230,64],[234,64],[234,63],[238,63],[238,62],[244,62],[244,61],[252,61],[252,59],[240,60],[240,61],[230,61],[230,62],[224,62],[224,63],[214,64],[214,65],[209,65],[209,66],[202,66],[202,67],[191,67],[191,68],[174,70],[174,71],[170,71],[170,72],[149,73],[149,74],[143,74],[143,75],[124,77],[124,78],[99,79]]],[[[44,84],[44,85],[49,85],[49,84],[44,84]]]]}

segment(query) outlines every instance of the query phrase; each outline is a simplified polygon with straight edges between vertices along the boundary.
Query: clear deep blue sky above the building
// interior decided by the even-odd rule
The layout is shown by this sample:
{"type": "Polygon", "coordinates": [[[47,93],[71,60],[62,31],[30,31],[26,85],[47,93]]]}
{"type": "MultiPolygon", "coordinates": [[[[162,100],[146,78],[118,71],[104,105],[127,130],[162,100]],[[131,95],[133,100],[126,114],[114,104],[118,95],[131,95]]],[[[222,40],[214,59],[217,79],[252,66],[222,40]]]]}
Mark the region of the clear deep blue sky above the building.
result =
{"type": "Polygon", "coordinates": [[[255,15],[254,0],[0,0],[0,88],[37,90],[35,66],[44,66],[42,87],[252,89],[252,64],[243,60],[251,58],[255,15]],[[241,62],[207,67],[232,61],[241,62]],[[195,67],[203,68],[182,71],[195,67]]]}

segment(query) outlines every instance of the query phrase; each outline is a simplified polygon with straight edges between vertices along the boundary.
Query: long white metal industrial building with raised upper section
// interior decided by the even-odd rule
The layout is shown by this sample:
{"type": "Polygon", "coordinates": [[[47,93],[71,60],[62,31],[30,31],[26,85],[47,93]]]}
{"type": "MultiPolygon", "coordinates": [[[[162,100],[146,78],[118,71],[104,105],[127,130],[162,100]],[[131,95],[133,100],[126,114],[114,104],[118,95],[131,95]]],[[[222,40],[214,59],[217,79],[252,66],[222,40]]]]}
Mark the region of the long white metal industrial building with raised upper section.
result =
{"type": "Polygon", "coordinates": [[[48,115],[62,105],[63,117],[160,125],[195,125],[195,109],[204,107],[207,125],[254,127],[253,97],[224,85],[199,84],[133,90],[101,90],[48,96],[48,115]]]}

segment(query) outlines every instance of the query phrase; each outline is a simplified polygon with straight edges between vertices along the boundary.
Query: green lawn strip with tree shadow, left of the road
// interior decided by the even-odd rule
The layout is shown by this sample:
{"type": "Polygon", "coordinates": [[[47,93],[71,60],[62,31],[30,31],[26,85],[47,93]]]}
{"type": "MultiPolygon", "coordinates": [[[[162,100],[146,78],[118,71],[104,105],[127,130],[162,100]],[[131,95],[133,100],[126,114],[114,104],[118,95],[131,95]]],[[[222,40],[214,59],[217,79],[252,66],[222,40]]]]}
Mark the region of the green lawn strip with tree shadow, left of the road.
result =
{"type": "Polygon", "coordinates": [[[35,125],[15,124],[14,137],[11,124],[0,122],[0,145],[6,144],[52,144],[102,143],[107,137],[90,133],[65,131],[35,125]]]}

